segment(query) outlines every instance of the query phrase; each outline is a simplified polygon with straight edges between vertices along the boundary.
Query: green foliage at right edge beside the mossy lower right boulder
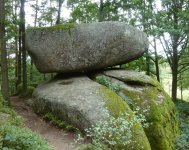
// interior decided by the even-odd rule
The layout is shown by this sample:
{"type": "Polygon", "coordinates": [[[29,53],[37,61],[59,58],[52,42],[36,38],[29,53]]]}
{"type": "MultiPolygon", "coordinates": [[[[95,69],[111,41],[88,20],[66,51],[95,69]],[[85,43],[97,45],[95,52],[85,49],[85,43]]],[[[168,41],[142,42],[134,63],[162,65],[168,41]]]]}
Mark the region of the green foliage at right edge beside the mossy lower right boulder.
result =
{"type": "Polygon", "coordinates": [[[177,100],[175,105],[178,109],[178,122],[181,135],[177,138],[176,150],[189,149],[189,102],[177,100]]]}

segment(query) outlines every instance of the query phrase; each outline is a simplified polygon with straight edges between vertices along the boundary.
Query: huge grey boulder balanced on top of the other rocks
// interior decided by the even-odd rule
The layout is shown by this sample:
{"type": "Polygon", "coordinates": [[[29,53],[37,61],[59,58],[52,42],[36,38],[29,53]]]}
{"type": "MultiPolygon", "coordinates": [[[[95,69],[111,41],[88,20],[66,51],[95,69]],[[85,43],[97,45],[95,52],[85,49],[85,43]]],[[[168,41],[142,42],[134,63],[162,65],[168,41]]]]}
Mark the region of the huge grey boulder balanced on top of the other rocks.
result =
{"type": "Polygon", "coordinates": [[[65,24],[34,29],[26,49],[42,73],[95,70],[140,58],[146,35],[121,22],[65,24]]]}

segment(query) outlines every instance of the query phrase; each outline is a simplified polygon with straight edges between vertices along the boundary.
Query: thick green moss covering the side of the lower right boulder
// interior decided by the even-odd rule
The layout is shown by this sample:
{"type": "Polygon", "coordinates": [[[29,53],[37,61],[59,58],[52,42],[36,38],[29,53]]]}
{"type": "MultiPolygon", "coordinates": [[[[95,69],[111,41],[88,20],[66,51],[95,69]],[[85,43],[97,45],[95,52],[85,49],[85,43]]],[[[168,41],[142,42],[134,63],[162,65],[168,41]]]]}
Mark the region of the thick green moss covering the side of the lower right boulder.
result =
{"type": "Polygon", "coordinates": [[[156,87],[145,86],[143,92],[125,90],[126,96],[142,109],[150,106],[150,112],[144,114],[147,122],[152,123],[145,133],[153,150],[174,149],[175,137],[179,135],[176,107],[158,82],[156,87]],[[136,98],[140,99],[136,101],[136,98]]]}

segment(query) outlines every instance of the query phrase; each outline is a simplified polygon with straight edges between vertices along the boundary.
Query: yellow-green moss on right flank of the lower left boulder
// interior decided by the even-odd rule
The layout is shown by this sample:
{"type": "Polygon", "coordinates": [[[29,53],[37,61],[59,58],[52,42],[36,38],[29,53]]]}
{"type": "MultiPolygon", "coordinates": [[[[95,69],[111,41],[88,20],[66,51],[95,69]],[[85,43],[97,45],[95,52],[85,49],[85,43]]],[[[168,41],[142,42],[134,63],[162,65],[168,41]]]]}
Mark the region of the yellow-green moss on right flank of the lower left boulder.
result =
{"type": "MultiPolygon", "coordinates": [[[[131,143],[127,146],[122,144],[118,145],[119,149],[144,149],[151,150],[149,141],[145,135],[143,128],[140,126],[140,123],[133,118],[133,112],[129,108],[128,104],[123,101],[121,97],[119,97],[115,92],[111,91],[105,86],[100,88],[100,96],[105,99],[105,107],[107,107],[110,115],[118,118],[120,113],[124,113],[127,110],[129,116],[125,116],[125,120],[132,121],[133,126],[131,127],[132,137],[131,143]]],[[[127,131],[123,132],[123,135],[127,135],[127,131]]]]}

